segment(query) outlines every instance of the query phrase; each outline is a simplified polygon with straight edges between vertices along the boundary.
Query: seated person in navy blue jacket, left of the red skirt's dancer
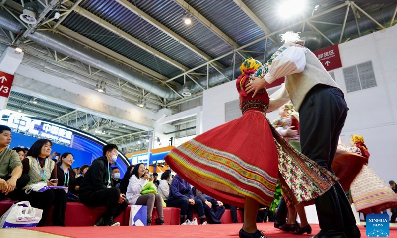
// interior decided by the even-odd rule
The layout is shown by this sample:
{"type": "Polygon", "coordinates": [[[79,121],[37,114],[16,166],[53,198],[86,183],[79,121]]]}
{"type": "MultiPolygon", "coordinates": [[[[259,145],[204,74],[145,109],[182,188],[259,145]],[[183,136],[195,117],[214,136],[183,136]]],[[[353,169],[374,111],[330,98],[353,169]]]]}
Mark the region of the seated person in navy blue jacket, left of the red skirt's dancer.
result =
{"type": "Polygon", "coordinates": [[[200,223],[207,224],[201,200],[193,196],[190,184],[178,175],[172,180],[167,206],[181,208],[181,224],[184,224],[186,219],[192,221],[193,208],[199,213],[200,223]]]}

